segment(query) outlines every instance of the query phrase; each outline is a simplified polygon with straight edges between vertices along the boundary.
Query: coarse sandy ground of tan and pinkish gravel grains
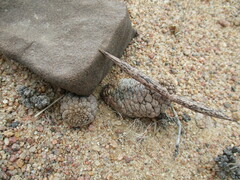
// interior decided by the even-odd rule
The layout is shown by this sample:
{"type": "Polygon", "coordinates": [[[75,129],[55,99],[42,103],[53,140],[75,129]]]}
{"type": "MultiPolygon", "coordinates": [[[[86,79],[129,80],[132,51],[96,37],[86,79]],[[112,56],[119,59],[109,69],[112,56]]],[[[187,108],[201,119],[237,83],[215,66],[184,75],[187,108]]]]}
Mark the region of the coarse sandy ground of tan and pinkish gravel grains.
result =
{"type": "MultiPolygon", "coordinates": [[[[159,79],[171,76],[178,94],[240,117],[240,1],[126,0],[139,36],[122,60],[159,79]]],[[[113,67],[96,89],[96,120],[70,129],[59,103],[40,117],[21,105],[26,85],[51,100],[63,92],[6,58],[0,59],[0,175],[6,179],[217,179],[213,159],[240,146],[239,125],[176,105],[183,124],[174,159],[175,124],[122,118],[99,97],[101,88],[127,77],[113,67]],[[13,128],[15,126],[15,128],[13,128]],[[17,127],[16,127],[17,126],[17,127]]],[[[1,178],[0,178],[1,179],[1,178]]]]}

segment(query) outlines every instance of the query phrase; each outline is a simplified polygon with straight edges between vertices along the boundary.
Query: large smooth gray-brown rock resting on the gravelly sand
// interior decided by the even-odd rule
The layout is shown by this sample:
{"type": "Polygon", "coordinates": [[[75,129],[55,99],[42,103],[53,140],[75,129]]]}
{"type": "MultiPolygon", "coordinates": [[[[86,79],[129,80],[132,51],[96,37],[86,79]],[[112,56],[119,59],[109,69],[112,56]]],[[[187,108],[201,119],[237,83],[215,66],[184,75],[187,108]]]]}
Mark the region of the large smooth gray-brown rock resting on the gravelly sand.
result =
{"type": "Polygon", "coordinates": [[[89,95],[135,35],[122,2],[0,1],[0,52],[46,81],[89,95]]]}

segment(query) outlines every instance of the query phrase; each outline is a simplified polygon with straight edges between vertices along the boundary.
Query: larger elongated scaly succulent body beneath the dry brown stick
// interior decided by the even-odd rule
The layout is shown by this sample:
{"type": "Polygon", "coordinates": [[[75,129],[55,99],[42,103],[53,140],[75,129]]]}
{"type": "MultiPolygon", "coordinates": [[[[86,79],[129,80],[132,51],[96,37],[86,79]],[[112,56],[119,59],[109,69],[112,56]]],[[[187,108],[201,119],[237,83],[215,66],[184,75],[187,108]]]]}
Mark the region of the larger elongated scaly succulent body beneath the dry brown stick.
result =
{"type": "MultiPolygon", "coordinates": [[[[174,85],[166,88],[175,92],[174,85]]],[[[103,100],[124,116],[154,118],[169,108],[170,101],[155,91],[147,89],[134,79],[121,79],[118,86],[106,85],[101,93],[103,100]]]]}

